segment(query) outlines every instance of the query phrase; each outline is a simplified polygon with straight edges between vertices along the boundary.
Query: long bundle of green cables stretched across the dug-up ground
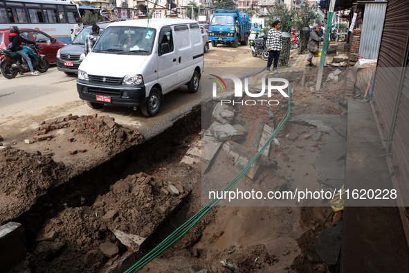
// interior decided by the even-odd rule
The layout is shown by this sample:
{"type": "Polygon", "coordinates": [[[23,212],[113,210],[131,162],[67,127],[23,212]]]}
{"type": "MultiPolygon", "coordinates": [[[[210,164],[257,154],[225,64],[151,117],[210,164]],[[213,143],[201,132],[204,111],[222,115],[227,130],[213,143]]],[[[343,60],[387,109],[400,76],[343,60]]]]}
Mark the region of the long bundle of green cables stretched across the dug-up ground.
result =
{"type": "Polygon", "coordinates": [[[145,255],[143,258],[141,258],[137,263],[129,267],[128,270],[126,270],[124,273],[134,273],[138,272],[141,270],[147,263],[152,261],[156,256],[161,254],[165,249],[170,247],[173,243],[175,243],[179,238],[181,238],[183,235],[185,235],[192,227],[203,218],[210,209],[212,209],[213,206],[215,206],[225,195],[226,192],[230,191],[233,186],[241,179],[247,172],[247,170],[251,167],[251,165],[262,155],[264,150],[266,150],[267,147],[270,146],[271,142],[275,139],[275,136],[280,132],[281,128],[284,126],[284,123],[286,123],[287,119],[290,118],[290,112],[291,112],[291,84],[289,85],[288,89],[288,95],[289,95],[289,102],[288,102],[288,109],[287,112],[280,122],[280,124],[275,128],[273,134],[269,138],[269,140],[266,142],[266,144],[263,146],[263,148],[260,150],[260,152],[257,152],[257,155],[251,159],[251,161],[248,162],[246,167],[224,188],[219,195],[217,195],[217,198],[213,199],[210,201],[206,206],[203,206],[203,208],[194,214],[192,218],[190,218],[188,221],[186,221],[184,224],[181,225],[181,227],[177,228],[170,236],[167,236],[165,240],[163,240],[159,245],[157,245],[154,249],[152,249],[151,252],[149,252],[147,255],[145,255]]]}

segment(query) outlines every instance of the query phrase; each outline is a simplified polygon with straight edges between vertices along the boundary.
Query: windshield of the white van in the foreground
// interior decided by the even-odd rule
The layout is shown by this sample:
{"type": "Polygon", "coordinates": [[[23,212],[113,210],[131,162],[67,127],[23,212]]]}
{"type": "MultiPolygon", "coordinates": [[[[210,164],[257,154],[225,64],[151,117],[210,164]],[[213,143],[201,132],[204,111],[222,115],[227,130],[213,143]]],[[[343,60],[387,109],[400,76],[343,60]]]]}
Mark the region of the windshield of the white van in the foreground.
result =
{"type": "Polygon", "coordinates": [[[136,26],[110,26],[102,33],[92,52],[107,54],[152,53],[156,30],[136,26]]]}

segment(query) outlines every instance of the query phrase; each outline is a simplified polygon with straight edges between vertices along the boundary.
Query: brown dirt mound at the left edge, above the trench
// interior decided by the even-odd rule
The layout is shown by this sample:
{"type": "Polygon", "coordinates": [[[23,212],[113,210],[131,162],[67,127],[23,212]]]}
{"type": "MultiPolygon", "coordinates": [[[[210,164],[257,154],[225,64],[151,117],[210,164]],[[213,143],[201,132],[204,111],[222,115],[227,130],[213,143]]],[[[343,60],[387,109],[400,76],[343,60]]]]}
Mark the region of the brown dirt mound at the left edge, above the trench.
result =
{"type": "Polygon", "coordinates": [[[0,152],[0,222],[17,218],[30,209],[39,196],[58,182],[66,181],[68,171],[41,152],[28,153],[14,148],[0,152]]]}

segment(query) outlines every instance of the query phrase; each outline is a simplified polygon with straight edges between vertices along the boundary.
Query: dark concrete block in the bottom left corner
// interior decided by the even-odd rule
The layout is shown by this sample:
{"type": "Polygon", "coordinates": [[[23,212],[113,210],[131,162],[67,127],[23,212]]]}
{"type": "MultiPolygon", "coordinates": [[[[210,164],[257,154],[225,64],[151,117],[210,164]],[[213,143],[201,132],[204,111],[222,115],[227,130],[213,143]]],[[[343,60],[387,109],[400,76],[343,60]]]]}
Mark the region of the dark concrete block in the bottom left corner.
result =
{"type": "Polygon", "coordinates": [[[4,272],[26,259],[26,235],[18,222],[0,227],[0,257],[0,268],[4,272]]]}

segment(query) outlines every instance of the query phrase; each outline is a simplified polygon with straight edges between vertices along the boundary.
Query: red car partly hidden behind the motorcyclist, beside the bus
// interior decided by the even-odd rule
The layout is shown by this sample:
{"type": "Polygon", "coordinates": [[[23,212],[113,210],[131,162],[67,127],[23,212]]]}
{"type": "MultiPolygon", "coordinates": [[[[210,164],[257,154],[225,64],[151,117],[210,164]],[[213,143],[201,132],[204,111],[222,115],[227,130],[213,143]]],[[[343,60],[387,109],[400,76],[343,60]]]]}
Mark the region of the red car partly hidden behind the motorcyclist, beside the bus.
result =
{"type": "MultiPolygon", "coordinates": [[[[10,35],[10,29],[0,29],[0,49],[6,49],[10,43],[8,41],[8,35],[10,35]]],[[[49,62],[57,62],[57,51],[65,46],[64,43],[57,41],[50,35],[33,28],[20,28],[20,35],[24,39],[37,42],[41,54],[46,55],[49,62]]]]}

